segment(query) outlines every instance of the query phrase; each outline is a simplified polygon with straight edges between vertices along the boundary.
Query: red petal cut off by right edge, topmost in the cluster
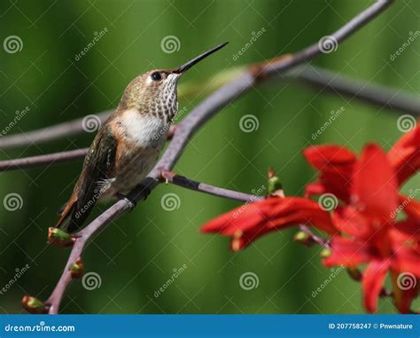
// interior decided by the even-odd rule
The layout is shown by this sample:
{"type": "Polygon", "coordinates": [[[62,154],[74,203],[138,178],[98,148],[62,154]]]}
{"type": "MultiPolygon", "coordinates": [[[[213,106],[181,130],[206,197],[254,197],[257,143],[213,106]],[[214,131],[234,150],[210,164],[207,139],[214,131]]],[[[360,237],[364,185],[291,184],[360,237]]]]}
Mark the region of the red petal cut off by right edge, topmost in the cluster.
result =
{"type": "Polygon", "coordinates": [[[405,133],[387,156],[397,173],[399,185],[402,185],[420,169],[420,126],[405,133]]]}

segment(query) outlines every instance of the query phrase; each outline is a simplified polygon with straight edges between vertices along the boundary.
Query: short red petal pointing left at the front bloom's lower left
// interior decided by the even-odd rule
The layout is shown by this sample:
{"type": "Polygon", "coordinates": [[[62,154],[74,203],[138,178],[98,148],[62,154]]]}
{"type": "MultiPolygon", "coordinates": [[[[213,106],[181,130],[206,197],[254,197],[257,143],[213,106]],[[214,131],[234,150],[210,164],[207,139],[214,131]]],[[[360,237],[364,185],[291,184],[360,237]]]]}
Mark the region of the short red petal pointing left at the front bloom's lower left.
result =
{"type": "Polygon", "coordinates": [[[324,258],[323,263],[326,266],[344,265],[353,267],[369,262],[373,257],[369,244],[336,236],[331,240],[331,255],[324,258]]]}

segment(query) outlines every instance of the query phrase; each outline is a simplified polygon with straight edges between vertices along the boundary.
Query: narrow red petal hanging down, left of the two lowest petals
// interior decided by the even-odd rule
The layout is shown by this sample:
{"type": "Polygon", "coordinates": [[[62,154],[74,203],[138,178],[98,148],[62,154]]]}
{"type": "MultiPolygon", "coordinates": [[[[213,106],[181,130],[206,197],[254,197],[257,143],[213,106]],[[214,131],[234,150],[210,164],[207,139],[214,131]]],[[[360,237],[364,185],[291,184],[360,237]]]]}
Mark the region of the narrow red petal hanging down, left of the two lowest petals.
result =
{"type": "Polygon", "coordinates": [[[384,285],[386,272],[390,264],[389,260],[374,260],[363,271],[364,306],[369,312],[375,312],[377,310],[377,297],[384,285]]]}

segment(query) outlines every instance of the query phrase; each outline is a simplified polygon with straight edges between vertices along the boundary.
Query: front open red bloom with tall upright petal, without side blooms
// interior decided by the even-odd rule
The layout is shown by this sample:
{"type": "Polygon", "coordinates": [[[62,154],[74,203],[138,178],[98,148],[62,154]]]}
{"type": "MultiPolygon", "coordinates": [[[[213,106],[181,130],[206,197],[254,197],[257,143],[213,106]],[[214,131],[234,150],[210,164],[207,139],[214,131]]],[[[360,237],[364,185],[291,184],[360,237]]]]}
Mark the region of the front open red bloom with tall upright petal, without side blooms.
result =
{"type": "Polygon", "coordinates": [[[338,229],[352,237],[333,237],[331,255],[324,263],[347,267],[368,263],[362,277],[364,305],[374,312],[386,273],[390,271],[397,278],[401,273],[420,278],[420,264],[413,264],[413,258],[420,256],[407,244],[412,238],[394,227],[393,212],[399,200],[397,177],[377,145],[363,150],[354,167],[350,192],[351,202],[338,208],[332,219],[338,229]]]}

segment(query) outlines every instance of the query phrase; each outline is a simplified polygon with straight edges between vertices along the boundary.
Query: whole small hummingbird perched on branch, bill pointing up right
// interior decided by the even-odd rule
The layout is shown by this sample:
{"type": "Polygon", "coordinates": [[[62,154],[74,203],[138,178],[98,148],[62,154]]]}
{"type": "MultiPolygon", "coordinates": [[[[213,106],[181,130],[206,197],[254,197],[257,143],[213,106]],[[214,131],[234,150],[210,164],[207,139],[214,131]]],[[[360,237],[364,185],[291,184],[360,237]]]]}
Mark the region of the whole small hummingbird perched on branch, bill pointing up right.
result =
{"type": "Polygon", "coordinates": [[[158,161],[168,126],[178,111],[179,78],[227,43],[180,67],[138,75],[124,90],[116,110],[97,131],[73,193],[59,212],[57,227],[79,229],[97,201],[125,198],[158,161]]]}

